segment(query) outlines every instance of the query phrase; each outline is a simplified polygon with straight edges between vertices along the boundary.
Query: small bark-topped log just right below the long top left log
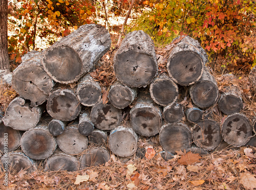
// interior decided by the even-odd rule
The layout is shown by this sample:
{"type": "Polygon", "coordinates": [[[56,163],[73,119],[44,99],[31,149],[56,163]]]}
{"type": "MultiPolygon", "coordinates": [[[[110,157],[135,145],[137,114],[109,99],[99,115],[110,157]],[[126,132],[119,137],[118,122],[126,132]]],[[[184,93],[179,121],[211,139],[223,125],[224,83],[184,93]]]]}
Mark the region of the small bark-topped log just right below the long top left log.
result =
{"type": "Polygon", "coordinates": [[[76,89],[77,98],[84,106],[93,106],[101,99],[101,88],[90,74],[82,77],[76,89]]]}

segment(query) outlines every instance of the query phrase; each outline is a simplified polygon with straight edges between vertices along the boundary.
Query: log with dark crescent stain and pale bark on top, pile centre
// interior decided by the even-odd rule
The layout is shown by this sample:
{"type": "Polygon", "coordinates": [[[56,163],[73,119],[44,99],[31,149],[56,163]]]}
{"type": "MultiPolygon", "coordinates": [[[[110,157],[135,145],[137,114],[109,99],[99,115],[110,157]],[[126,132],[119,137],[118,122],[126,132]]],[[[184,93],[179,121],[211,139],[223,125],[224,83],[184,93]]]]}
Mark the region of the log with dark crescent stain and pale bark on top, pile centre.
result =
{"type": "Polygon", "coordinates": [[[143,136],[153,136],[159,133],[162,125],[160,108],[153,104],[148,94],[140,94],[130,111],[133,130],[143,136]]]}

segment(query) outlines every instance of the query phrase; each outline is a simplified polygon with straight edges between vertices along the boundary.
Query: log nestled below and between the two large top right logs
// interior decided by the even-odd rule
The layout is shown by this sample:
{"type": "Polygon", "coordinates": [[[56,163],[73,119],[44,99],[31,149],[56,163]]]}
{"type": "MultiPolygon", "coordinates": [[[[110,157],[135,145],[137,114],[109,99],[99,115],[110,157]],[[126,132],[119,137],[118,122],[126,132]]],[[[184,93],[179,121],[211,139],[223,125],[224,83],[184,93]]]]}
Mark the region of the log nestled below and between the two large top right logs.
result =
{"type": "Polygon", "coordinates": [[[178,97],[177,84],[165,73],[156,77],[150,84],[151,98],[161,106],[173,104],[178,97]]]}

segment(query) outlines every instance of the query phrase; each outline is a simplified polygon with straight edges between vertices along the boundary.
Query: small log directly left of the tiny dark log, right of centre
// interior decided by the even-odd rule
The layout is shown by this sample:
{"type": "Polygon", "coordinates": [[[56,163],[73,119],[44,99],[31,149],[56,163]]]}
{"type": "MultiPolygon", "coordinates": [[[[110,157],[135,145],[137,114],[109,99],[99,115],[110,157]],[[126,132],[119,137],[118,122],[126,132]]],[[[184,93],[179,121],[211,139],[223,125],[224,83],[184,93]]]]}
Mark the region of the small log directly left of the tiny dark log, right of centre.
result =
{"type": "Polygon", "coordinates": [[[163,118],[167,123],[178,123],[183,117],[183,108],[181,104],[174,102],[163,108],[163,118]]]}

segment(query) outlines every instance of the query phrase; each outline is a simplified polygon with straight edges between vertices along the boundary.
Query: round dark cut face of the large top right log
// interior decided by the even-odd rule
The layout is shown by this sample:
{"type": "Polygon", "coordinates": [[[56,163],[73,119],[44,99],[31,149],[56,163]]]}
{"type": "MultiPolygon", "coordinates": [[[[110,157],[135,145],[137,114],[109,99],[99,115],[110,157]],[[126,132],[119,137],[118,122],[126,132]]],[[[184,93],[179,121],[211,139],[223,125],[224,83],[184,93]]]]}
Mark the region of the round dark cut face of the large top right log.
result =
{"type": "Polygon", "coordinates": [[[188,86],[197,82],[203,73],[203,60],[197,53],[181,51],[168,58],[167,71],[180,85],[188,86]]]}

